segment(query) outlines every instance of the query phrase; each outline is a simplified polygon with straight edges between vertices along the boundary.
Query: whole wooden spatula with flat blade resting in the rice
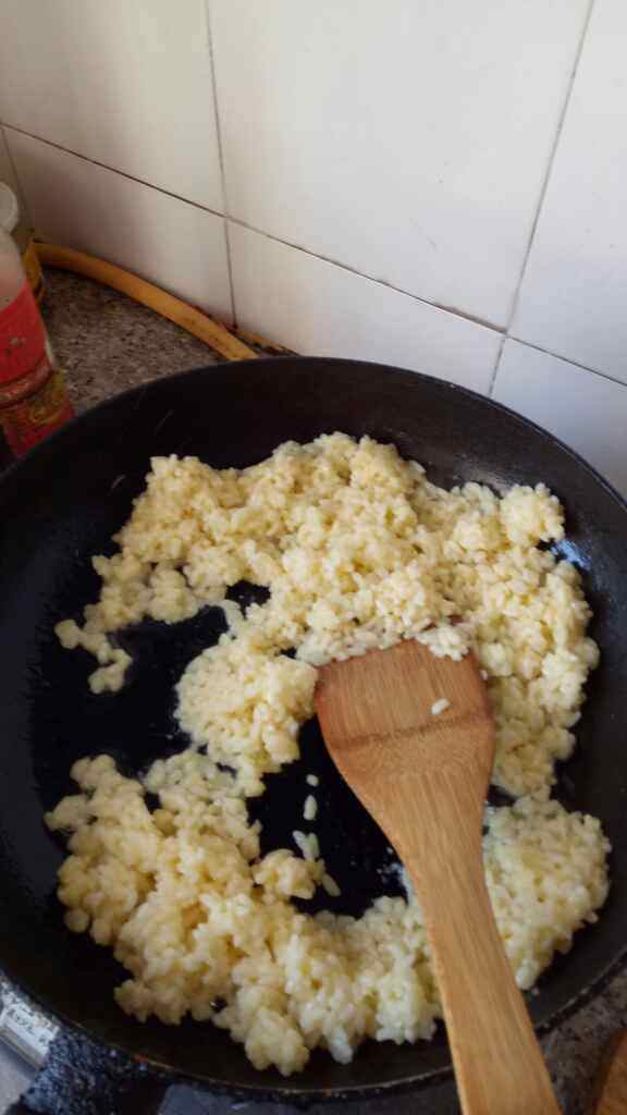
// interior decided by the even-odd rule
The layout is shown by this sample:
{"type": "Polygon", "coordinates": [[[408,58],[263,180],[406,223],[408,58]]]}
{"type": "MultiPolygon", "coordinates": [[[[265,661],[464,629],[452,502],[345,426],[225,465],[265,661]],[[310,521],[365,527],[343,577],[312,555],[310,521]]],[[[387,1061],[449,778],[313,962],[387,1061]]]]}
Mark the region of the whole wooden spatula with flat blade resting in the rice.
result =
{"type": "Polygon", "coordinates": [[[476,660],[405,641],[332,662],[316,709],[336,766],[416,890],[465,1115],[559,1115],[485,888],[494,728],[476,660]]]}

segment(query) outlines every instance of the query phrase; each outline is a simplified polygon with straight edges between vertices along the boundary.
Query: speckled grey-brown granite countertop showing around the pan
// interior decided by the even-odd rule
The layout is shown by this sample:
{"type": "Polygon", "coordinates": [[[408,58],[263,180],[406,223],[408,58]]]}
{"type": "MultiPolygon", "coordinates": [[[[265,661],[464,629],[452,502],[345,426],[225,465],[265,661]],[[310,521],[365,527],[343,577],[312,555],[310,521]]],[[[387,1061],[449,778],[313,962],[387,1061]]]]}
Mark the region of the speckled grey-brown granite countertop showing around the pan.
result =
{"type": "MultiPolygon", "coordinates": [[[[77,411],[128,387],[185,368],[218,361],[205,345],[120,294],[65,272],[48,272],[45,311],[59,362],[77,411]]],[[[627,925],[625,927],[627,937],[627,925]]],[[[627,1026],[627,972],[543,1043],[565,1115],[588,1115],[590,1084],[609,1037],[627,1026]]],[[[367,1105],[364,1115],[457,1109],[450,1088],[431,1102],[367,1105]]],[[[248,1108],[248,1105],[244,1105],[248,1108]]],[[[170,1109],[170,1105],[167,1106],[170,1109]]],[[[179,1109],[179,1108],[177,1108],[179,1109]]],[[[183,1109],[183,1108],[181,1108],[183,1109]]],[[[201,1108],[192,1105],[187,1109],[201,1108]]],[[[213,1105],[211,1111],[216,1111],[213,1105]]],[[[228,1107],[221,1107],[226,1111],[228,1107]]],[[[242,1108],[240,1108],[242,1109],[242,1108]]],[[[253,1111],[254,1108],[250,1108],[253,1111]]],[[[346,1107],[344,1108],[346,1111],[346,1107]]],[[[257,1108],[259,1111],[259,1108],[257,1108]]],[[[274,1108],[278,1112],[278,1108],[274,1108]]],[[[282,1108],[287,1112],[287,1108],[282,1108]]],[[[330,1107],[324,1108],[332,1115],[330,1107]]],[[[349,1105],[349,1111],[357,1108],[349,1105]]],[[[530,1115],[533,1115],[530,1112],[530,1115]]]]}

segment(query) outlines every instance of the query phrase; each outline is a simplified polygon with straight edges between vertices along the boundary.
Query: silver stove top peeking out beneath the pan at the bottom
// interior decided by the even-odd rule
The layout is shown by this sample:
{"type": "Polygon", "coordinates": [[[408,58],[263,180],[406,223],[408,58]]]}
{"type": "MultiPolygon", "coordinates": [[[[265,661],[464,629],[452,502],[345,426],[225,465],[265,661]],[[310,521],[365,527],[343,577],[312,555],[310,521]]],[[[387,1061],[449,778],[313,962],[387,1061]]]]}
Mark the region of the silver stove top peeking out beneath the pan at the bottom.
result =
{"type": "MultiPolygon", "coordinates": [[[[33,1010],[7,983],[0,980],[0,1112],[28,1087],[44,1064],[57,1026],[33,1010]]],[[[318,1104],[309,1115],[457,1115],[460,1108],[453,1084],[432,1088],[418,1096],[395,1096],[369,1103],[318,1104]]],[[[183,1086],[173,1086],[161,1115],[296,1115],[286,1104],[241,1103],[211,1096],[183,1086]]]]}

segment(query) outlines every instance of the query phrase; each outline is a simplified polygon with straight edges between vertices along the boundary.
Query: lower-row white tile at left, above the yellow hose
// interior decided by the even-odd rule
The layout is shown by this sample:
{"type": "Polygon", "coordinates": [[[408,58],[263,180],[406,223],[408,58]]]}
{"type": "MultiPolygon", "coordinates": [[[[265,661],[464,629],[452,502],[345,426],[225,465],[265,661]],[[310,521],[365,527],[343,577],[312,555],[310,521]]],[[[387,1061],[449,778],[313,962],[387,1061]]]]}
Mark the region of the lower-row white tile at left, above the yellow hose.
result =
{"type": "Polygon", "coordinates": [[[7,129],[31,220],[47,240],[118,263],[231,319],[224,219],[7,129]]]}

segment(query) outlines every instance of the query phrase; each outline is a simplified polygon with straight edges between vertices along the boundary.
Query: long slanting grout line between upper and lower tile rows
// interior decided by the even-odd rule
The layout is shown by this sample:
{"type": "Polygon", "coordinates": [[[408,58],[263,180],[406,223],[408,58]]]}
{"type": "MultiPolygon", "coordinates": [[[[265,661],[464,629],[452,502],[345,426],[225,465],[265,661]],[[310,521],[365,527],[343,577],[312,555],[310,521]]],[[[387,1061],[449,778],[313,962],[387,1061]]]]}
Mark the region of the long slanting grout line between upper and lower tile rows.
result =
{"type": "Polygon", "coordinates": [[[89,158],[87,155],[81,155],[79,152],[71,151],[69,147],[62,147],[60,144],[52,143],[50,139],[45,139],[42,136],[35,135],[32,132],[27,132],[25,128],[16,127],[15,124],[7,124],[6,122],[0,120],[0,126],[4,127],[9,132],[17,132],[18,135],[27,136],[29,139],[36,139],[38,143],[44,143],[47,147],[52,147],[55,151],[64,152],[64,154],[71,155],[74,158],[79,158],[84,163],[90,163],[93,166],[98,166],[103,171],[108,171],[109,174],[117,174],[119,177],[127,178],[129,182],[136,182],[138,185],[146,186],[148,190],[155,190],[156,193],[164,194],[166,197],[172,197],[174,201],[183,202],[184,205],[191,205],[193,209],[201,210],[203,213],[210,213],[212,216],[216,216],[224,221],[226,225],[229,223],[235,224],[240,229],[245,229],[248,232],[254,232],[258,236],[263,236],[264,240],[270,240],[276,244],[282,244],[284,248],[291,248],[292,251],[301,252],[303,255],[308,255],[314,260],[320,260],[322,263],[328,263],[330,266],[339,268],[341,271],[347,271],[349,274],[357,275],[358,279],[365,279],[367,282],[373,282],[378,287],[384,287],[386,290],[390,290],[395,294],[403,294],[405,298],[411,298],[414,302],[419,302],[421,306],[428,306],[433,310],[440,310],[442,313],[450,313],[453,318],[459,318],[462,321],[469,321],[471,324],[479,326],[481,329],[488,329],[493,333],[504,334],[505,332],[504,326],[499,326],[484,318],[478,318],[472,313],[466,313],[464,310],[459,310],[451,306],[444,306],[441,302],[433,302],[428,298],[414,294],[408,290],[403,290],[402,287],[395,287],[385,279],[377,279],[374,275],[365,274],[363,271],[351,268],[348,263],[343,263],[340,260],[334,260],[327,255],[321,255],[318,252],[312,252],[310,249],[303,248],[301,244],[293,244],[288,240],[281,240],[279,236],[274,236],[271,232],[264,232],[263,229],[258,229],[255,225],[248,224],[245,221],[232,216],[230,213],[221,213],[218,210],[210,209],[209,205],[202,205],[200,202],[190,201],[189,197],[182,197],[181,194],[175,194],[172,190],[164,190],[163,186],[155,186],[154,183],[147,182],[146,178],[137,178],[133,174],[128,174],[126,171],[119,171],[117,167],[108,166],[106,163],[99,163],[97,159],[89,158]]]}

